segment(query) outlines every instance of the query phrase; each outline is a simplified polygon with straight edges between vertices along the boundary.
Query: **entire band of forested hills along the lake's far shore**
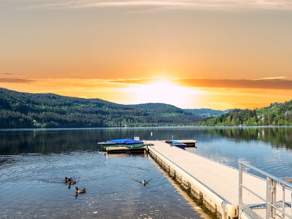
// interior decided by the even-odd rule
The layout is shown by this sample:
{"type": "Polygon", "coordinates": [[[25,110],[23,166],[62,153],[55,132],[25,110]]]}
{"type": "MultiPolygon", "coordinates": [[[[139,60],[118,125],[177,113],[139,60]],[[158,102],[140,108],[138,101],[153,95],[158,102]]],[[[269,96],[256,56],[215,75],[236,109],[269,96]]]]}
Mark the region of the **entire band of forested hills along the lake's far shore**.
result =
{"type": "Polygon", "coordinates": [[[291,126],[292,100],[202,118],[168,104],[122,105],[101,99],[0,88],[0,128],[291,126]]]}

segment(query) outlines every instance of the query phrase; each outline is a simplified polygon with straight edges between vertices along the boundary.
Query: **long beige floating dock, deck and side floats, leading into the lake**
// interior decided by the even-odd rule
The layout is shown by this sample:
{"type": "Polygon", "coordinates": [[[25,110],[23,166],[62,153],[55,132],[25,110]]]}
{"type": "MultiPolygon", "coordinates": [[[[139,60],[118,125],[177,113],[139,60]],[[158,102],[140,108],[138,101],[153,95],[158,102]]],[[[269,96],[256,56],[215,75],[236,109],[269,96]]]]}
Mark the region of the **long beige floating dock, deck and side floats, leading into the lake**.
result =
{"type": "Polygon", "coordinates": [[[275,180],[273,176],[264,180],[242,172],[242,164],[239,171],[176,146],[171,147],[164,141],[145,143],[153,144],[146,150],[166,172],[190,192],[201,195],[222,219],[238,216],[241,219],[292,218],[292,185],[289,187],[287,182],[275,180]],[[276,189],[282,193],[276,193],[276,189]],[[264,202],[265,198],[268,201],[264,202]]]}

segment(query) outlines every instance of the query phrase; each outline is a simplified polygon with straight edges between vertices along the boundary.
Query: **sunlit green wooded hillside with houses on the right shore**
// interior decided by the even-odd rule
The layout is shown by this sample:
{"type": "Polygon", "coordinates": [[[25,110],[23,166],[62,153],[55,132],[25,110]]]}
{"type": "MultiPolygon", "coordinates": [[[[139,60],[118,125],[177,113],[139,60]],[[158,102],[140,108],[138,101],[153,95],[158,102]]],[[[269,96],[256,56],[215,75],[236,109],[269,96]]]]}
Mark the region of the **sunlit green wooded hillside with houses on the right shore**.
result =
{"type": "Polygon", "coordinates": [[[255,110],[231,110],[214,118],[203,119],[202,126],[291,126],[292,100],[255,110]]]}

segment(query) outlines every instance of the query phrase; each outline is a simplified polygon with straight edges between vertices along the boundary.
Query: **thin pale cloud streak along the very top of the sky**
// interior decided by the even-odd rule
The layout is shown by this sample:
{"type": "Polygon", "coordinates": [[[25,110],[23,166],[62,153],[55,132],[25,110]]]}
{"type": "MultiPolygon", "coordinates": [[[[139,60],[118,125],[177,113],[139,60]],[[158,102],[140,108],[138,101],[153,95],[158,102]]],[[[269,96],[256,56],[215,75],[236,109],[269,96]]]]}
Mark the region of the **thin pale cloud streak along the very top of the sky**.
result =
{"type": "MultiPolygon", "coordinates": [[[[11,1],[11,0],[9,0],[11,1]]],[[[13,0],[28,7],[94,8],[94,7],[162,7],[163,9],[257,8],[292,9],[291,0],[13,0]]]]}

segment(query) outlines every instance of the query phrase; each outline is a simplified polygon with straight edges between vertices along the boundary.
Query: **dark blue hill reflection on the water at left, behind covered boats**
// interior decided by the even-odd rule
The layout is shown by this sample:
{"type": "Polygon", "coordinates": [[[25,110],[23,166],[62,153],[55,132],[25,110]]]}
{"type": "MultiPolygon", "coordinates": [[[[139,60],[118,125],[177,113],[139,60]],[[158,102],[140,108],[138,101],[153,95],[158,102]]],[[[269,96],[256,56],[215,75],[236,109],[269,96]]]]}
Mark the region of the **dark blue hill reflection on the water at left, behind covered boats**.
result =
{"type": "MultiPolygon", "coordinates": [[[[153,131],[153,130],[152,130],[153,131]]],[[[79,130],[28,130],[1,131],[0,155],[15,155],[21,153],[60,153],[69,150],[98,150],[98,142],[119,138],[160,139],[169,131],[155,130],[150,136],[150,129],[108,128],[79,130]]]]}

